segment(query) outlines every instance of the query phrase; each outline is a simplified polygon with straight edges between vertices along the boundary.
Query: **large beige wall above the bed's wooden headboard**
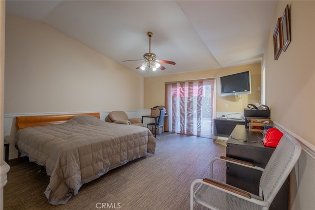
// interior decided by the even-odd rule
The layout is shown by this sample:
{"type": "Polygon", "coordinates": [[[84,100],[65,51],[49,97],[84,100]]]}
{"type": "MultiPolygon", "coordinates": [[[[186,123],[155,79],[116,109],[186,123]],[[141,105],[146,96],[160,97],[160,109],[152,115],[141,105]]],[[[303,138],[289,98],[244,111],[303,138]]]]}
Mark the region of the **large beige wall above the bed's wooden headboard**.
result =
{"type": "Polygon", "coordinates": [[[4,114],[143,109],[143,77],[118,63],[14,15],[5,33],[4,114]]]}

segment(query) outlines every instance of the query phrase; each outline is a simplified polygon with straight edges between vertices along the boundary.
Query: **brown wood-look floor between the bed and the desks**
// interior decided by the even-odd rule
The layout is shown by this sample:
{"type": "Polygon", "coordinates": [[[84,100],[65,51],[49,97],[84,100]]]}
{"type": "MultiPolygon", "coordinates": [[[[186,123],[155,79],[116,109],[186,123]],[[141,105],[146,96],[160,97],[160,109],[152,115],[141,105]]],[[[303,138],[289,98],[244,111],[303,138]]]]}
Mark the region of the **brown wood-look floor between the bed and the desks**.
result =
{"type": "MultiPolygon", "coordinates": [[[[192,180],[209,177],[210,160],[225,156],[224,144],[212,139],[165,132],[156,138],[156,153],[109,171],[84,184],[63,205],[44,194],[49,176],[28,158],[9,161],[3,188],[4,210],[189,210],[192,180]]],[[[215,163],[215,178],[225,181],[226,166],[215,163]]],[[[205,210],[196,205],[195,210],[205,210]]]]}

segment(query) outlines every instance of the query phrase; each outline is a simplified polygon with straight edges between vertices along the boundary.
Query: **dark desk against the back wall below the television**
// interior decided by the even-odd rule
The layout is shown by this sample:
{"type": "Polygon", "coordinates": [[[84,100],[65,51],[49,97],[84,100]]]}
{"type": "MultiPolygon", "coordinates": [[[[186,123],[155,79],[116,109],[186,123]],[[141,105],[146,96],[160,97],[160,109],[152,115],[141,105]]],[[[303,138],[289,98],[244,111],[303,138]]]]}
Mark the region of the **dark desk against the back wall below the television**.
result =
{"type": "Polygon", "coordinates": [[[213,142],[218,136],[229,137],[236,125],[245,125],[245,120],[213,119],[213,142]]]}

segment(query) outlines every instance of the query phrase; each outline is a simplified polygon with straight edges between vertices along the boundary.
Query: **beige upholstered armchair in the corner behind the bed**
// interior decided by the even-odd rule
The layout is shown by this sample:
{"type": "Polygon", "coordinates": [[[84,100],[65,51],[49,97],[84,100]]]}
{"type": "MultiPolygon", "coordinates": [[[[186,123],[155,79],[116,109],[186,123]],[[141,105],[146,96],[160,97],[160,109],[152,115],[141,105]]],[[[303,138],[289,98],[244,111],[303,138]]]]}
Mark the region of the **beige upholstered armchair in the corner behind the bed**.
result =
{"type": "Polygon", "coordinates": [[[112,111],[110,112],[107,117],[105,118],[106,122],[113,122],[119,124],[127,124],[127,125],[137,125],[142,126],[143,123],[140,118],[128,118],[126,112],[124,111],[112,111]]]}

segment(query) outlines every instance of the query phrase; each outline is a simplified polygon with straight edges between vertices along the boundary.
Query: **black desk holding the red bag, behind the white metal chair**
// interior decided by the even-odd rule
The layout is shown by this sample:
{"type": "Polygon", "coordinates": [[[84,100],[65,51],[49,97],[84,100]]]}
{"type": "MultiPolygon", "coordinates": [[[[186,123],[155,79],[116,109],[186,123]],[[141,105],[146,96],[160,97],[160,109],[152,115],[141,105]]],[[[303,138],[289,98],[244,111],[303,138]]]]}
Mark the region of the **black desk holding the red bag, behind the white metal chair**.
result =
{"type": "MultiPolygon", "coordinates": [[[[260,142],[242,142],[235,139],[257,141],[262,138],[260,132],[250,132],[244,125],[236,125],[226,142],[226,156],[244,160],[265,168],[275,148],[265,147],[260,142]],[[258,136],[257,136],[258,135],[258,136]]],[[[258,195],[262,172],[226,163],[226,183],[258,195]]],[[[288,210],[289,180],[285,180],[280,191],[270,205],[270,210],[288,210]]]]}

